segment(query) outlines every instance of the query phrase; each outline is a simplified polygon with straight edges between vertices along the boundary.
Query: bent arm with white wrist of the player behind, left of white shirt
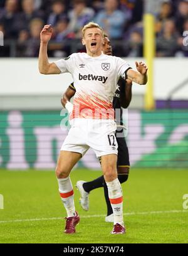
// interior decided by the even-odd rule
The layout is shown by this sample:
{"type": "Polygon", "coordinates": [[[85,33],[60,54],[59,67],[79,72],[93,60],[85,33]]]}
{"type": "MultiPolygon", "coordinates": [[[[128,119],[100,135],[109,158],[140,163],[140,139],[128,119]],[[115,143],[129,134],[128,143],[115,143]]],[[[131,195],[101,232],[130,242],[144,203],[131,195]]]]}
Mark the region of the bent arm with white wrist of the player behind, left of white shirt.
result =
{"type": "Polygon", "coordinates": [[[69,113],[73,110],[73,104],[71,104],[70,99],[75,95],[75,92],[75,87],[73,83],[71,83],[61,97],[61,105],[65,107],[69,113]]]}

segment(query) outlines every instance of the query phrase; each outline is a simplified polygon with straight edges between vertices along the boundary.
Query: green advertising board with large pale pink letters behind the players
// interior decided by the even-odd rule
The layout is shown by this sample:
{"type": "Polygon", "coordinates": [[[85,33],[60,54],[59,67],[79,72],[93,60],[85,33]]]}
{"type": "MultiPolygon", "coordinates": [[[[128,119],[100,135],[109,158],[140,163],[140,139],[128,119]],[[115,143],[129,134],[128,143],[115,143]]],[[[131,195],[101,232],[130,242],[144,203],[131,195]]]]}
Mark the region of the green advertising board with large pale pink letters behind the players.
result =
{"type": "MultiPolygon", "coordinates": [[[[68,132],[67,116],[58,111],[1,112],[0,167],[54,169],[68,132]]],[[[125,126],[132,166],[188,166],[187,110],[129,110],[125,126]]],[[[76,167],[100,165],[89,150],[76,167]]]]}

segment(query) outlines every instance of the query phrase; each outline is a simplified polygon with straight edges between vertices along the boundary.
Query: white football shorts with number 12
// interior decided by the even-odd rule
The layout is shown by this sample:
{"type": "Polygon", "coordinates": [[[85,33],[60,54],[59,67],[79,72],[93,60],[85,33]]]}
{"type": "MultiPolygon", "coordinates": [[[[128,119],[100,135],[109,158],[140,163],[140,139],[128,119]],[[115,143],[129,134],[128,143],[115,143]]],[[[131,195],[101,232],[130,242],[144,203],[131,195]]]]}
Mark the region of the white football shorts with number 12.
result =
{"type": "Polygon", "coordinates": [[[111,119],[72,119],[61,151],[78,152],[84,156],[91,147],[97,157],[117,154],[116,129],[115,121],[111,119]]]}

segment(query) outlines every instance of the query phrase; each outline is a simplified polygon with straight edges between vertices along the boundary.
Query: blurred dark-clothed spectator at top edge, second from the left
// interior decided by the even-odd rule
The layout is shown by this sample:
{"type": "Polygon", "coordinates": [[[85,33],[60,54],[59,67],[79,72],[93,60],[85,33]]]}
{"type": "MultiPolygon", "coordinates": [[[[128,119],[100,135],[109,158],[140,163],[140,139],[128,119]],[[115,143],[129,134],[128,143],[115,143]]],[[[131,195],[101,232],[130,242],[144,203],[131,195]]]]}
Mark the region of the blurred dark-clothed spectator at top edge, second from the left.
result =
{"type": "Polygon", "coordinates": [[[18,33],[23,29],[29,29],[29,23],[32,19],[40,18],[44,20],[43,12],[34,9],[34,0],[22,0],[21,4],[23,12],[16,16],[14,25],[18,33]]]}

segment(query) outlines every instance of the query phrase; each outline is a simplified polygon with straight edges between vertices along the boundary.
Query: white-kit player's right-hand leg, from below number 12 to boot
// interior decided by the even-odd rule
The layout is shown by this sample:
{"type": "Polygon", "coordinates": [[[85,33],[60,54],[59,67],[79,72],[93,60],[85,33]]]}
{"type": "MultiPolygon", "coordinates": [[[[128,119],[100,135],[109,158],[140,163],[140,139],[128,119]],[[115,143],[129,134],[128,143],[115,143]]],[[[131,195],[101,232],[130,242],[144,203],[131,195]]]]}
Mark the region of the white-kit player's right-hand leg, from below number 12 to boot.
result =
{"type": "Polygon", "coordinates": [[[112,233],[125,233],[123,223],[123,195],[122,186],[117,178],[117,155],[102,156],[102,170],[108,188],[108,196],[114,215],[114,228],[112,233]]]}

